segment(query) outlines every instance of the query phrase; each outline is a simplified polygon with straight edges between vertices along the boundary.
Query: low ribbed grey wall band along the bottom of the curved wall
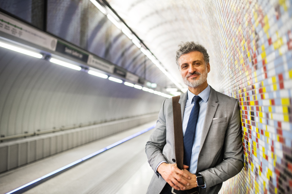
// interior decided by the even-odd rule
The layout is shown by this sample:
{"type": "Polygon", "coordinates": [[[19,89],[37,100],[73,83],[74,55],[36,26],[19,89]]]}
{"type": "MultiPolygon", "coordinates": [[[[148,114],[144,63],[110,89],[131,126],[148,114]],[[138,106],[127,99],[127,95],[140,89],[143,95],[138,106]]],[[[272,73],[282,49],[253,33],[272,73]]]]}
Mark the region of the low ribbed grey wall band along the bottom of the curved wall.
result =
{"type": "MultiPolygon", "coordinates": [[[[68,129],[0,144],[0,173],[157,119],[158,113],[68,129]],[[102,132],[101,132],[102,131],[102,132]],[[92,134],[97,134],[93,136],[92,134]]],[[[150,126],[149,126],[150,127],[150,126]]],[[[97,151],[97,150],[96,150],[97,151]]]]}

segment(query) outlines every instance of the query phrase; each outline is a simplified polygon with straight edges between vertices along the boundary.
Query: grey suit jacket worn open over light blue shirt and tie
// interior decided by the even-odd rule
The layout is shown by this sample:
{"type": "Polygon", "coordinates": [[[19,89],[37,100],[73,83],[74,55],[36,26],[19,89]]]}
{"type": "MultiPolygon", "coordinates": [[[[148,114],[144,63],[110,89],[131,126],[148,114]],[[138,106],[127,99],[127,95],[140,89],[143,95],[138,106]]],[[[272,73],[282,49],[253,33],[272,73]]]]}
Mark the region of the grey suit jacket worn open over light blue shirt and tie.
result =
{"type": "MultiPolygon", "coordinates": [[[[179,101],[182,120],[186,100],[187,93],[184,93],[179,101]]],[[[206,183],[206,189],[200,188],[200,194],[217,194],[223,181],[241,171],[244,160],[240,126],[238,100],[211,87],[197,168],[197,173],[204,176],[206,183]]],[[[165,99],[162,104],[156,127],[146,144],[146,155],[154,171],[159,162],[176,161],[172,98],[165,99]]],[[[154,173],[147,194],[160,194],[165,183],[161,176],[154,173]]]]}

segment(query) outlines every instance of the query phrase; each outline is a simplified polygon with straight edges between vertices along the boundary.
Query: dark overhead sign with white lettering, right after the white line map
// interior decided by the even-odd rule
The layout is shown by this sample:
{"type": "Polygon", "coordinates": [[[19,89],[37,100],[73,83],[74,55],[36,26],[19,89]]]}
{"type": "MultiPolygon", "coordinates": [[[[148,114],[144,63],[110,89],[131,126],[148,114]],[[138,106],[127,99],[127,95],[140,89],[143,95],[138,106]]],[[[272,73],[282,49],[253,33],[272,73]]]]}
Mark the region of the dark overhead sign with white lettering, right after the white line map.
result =
{"type": "Polygon", "coordinates": [[[56,51],[61,52],[65,55],[69,55],[73,58],[79,59],[81,61],[84,61],[87,63],[88,61],[88,54],[75,49],[73,47],[70,47],[69,45],[66,45],[65,43],[62,43],[60,41],[57,42],[57,47],[56,47],[56,51]]]}

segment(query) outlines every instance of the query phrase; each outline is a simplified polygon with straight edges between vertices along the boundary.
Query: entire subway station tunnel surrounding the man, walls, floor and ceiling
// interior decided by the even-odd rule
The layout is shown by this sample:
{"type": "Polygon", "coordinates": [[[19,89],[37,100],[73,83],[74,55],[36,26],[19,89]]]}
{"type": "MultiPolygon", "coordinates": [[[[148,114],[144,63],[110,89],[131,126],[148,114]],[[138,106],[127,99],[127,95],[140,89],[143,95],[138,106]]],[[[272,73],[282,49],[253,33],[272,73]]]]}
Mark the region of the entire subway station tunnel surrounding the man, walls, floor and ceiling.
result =
{"type": "Polygon", "coordinates": [[[187,41],[239,105],[243,168],[219,194],[291,194],[291,31],[291,0],[0,0],[0,194],[146,194],[187,41]]]}

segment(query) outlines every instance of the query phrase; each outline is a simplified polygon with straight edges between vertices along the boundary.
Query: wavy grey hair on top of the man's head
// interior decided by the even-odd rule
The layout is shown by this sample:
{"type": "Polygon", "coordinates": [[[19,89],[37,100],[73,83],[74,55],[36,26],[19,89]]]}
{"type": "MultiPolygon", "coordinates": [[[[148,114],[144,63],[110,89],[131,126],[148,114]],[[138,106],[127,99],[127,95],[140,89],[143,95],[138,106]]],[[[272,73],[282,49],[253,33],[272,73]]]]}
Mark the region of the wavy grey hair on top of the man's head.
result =
{"type": "Polygon", "coordinates": [[[193,41],[185,42],[185,43],[182,42],[181,44],[179,44],[179,49],[176,51],[176,57],[175,57],[176,64],[178,65],[179,68],[180,68],[180,65],[179,65],[180,57],[183,54],[187,54],[193,51],[201,52],[203,54],[205,64],[209,63],[209,55],[207,53],[207,49],[205,49],[202,45],[200,45],[199,43],[195,43],[193,41]]]}

